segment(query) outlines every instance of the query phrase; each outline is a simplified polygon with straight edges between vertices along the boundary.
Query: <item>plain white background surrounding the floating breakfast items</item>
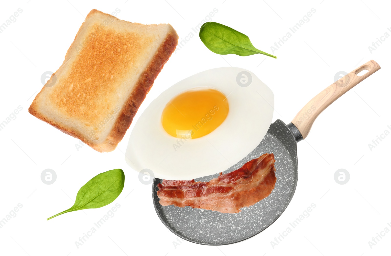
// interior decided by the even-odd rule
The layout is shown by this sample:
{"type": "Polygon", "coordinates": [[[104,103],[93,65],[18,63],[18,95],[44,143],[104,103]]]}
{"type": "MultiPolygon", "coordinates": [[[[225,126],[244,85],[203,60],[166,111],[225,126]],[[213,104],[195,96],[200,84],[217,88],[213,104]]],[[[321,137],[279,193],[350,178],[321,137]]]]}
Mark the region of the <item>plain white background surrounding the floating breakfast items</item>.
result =
{"type": "MultiPolygon", "coordinates": [[[[0,219],[18,203],[16,217],[0,229],[2,255],[386,255],[391,232],[370,248],[368,241],[391,222],[389,204],[390,146],[387,136],[378,146],[368,144],[391,130],[389,69],[391,38],[374,51],[368,46],[391,27],[387,1],[2,1],[0,23],[21,8],[23,12],[0,34],[0,122],[19,105],[23,110],[0,131],[0,219]],[[224,1],[224,2],[223,2],[224,1]],[[165,64],[151,92],[118,148],[98,153],[78,140],[38,120],[27,111],[42,88],[45,71],[61,66],[84,16],[91,9],[139,22],[170,23],[184,38],[192,37],[165,64]],[[272,53],[270,46],[314,8],[310,20],[292,34],[277,59],[264,55],[240,57],[210,52],[192,30],[213,9],[212,21],[239,30],[254,46],[272,53]],[[206,69],[237,66],[253,71],[274,92],[274,118],[289,123],[314,95],[334,82],[339,71],[350,72],[374,59],[382,69],[328,107],[298,144],[299,181],[287,210],[265,231],[238,244],[208,247],[183,241],[156,215],[151,186],[124,160],[134,123],[158,91],[206,69]],[[44,169],[53,169],[52,185],[41,181],[44,169]],[[115,202],[98,209],[46,218],[73,205],[79,188],[100,172],[122,168],[126,182],[115,202]],[[350,180],[339,185],[337,169],[350,180]],[[114,217],[77,249],[75,241],[115,203],[114,217]],[[305,218],[274,248],[271,241],[289,227],[311,203],[305,218]]],[[[254,117],[256,118],[256,117],[254,117]]],[[[247,120],[238,120],[247,122],[247,120]]],[[[390,227],[389,227],[390,228],[390,227]]],[[[391,229],[391,228],[390,228],[391,229]]]]}

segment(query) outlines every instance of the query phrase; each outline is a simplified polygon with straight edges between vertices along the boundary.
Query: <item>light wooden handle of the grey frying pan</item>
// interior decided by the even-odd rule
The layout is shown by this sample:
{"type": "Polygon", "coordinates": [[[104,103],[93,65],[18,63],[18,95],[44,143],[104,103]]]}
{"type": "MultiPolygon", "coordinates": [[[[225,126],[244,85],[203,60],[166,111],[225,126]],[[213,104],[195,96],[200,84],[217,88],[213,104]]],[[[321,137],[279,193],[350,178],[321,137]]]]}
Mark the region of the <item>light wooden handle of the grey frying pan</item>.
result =
{"type": "Polygon", "coordinates": [[[292,123],[298,128],[303,139],[305,139],[310,132],[316,117],[319,116],[326,107],[379,69],[379,64],[377,64],[375,60],[370,60],[350,72],[348,75],[340,78],[337,82],[317,94],[312,100],[308,101],[292,120],[292,123]],[[362,76],[358,76],[357,74],[364,69],[368,70],[368,72],[362,76]]]}

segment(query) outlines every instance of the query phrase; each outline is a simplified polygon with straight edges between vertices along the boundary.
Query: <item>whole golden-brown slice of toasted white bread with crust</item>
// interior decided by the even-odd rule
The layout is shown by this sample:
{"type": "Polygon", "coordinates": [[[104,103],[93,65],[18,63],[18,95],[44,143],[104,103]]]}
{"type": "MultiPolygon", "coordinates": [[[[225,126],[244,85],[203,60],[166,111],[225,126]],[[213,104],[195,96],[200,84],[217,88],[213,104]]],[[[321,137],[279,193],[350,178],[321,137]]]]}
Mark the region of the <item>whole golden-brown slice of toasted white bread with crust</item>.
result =
{"type": "Polygon", "coordinates": [[[177,43],[169,24],[92,10],[29,112],[99,152],[112,151],[177,43]]]}

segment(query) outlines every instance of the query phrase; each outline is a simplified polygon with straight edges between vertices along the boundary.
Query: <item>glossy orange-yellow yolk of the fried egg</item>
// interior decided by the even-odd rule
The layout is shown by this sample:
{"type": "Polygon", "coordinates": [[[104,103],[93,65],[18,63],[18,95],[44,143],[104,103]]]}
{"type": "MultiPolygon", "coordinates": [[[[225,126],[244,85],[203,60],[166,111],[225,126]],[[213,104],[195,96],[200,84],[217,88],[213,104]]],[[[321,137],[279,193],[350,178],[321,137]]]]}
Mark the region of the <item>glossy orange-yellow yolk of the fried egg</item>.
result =
{"type": "Polygon", "coordinates": [[[161,114],[161,124],[174,137],[196,139],[219,127],[228,110],[228,100],[222,92],[196,88],[182,92],[167,103],[161,114]]]}

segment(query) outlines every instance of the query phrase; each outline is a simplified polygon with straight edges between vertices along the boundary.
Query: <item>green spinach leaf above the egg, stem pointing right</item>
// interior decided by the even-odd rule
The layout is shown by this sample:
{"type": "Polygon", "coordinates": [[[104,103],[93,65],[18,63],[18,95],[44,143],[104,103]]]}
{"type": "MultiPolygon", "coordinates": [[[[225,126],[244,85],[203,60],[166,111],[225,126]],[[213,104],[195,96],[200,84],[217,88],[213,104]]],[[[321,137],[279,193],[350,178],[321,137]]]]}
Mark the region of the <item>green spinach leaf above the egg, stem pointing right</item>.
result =
{"type": "Polygon", "coordinates": [[[277,58],[255,48],[250,39],[239,31],[217,22],[206,22],[199,30],[199,38],[214,53],[248,56],[261,53],[277,58]]]}

